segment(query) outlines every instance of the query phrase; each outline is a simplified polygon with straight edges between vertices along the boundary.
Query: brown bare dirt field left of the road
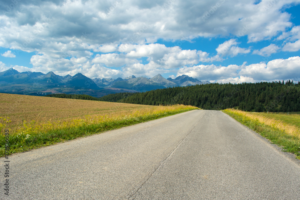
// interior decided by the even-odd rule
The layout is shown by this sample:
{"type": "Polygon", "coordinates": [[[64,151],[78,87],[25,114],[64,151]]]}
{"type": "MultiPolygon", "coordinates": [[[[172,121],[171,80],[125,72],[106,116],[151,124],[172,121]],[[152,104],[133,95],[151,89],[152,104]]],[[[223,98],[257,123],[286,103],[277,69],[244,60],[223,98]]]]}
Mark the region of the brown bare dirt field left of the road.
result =
{"type": "Polygon", "coordinates": [[[114,117],[161,109],[162,106],[0,93],[0,117],[10,117],[11,128],[21,125],[23,120],[67,121],[84,119],[86,115],[114,117]]]}

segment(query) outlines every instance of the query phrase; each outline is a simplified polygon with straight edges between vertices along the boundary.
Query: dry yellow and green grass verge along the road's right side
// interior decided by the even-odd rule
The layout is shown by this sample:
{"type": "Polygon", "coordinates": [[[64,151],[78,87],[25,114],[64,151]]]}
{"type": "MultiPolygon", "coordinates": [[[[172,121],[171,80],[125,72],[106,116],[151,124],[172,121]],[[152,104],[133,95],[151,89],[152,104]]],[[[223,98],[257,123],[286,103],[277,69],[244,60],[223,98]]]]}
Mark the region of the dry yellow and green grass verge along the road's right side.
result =
{"type": "Polygon", "coordinates": [[[287,133],[285,129],[278,126],[280,122],[271,120],[270,123],[268,119],[259,119],[255,115],[247,116],[247,112],[236,111],[234,109],[223,110],[224,113],[228,114],[241,124],[248,126],[250,129],[259,133],[261,136],[269,139],[273,144],[283,148],[283,151],[291,152],[296,155],[297,159],[300,159],[300,140],[298,134],[287,133]],[[266,122],[269,121],[269,124],[266,122]]]}

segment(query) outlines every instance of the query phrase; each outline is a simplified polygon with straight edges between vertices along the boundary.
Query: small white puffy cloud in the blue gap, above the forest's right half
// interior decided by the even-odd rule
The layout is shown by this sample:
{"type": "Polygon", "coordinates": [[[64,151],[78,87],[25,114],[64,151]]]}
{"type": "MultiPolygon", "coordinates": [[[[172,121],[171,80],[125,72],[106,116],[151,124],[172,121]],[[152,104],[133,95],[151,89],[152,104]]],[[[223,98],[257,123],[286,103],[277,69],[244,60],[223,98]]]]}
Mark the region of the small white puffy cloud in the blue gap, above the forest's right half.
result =
{"type": "Polygon", "coordinates": [[[250,53],[250,49],[237,47],[238,44],[239,43],[236,41],[236,39],[225,41],[216,48],[217,54],[222,57],[234,57],[238,54],[250,53]]]}

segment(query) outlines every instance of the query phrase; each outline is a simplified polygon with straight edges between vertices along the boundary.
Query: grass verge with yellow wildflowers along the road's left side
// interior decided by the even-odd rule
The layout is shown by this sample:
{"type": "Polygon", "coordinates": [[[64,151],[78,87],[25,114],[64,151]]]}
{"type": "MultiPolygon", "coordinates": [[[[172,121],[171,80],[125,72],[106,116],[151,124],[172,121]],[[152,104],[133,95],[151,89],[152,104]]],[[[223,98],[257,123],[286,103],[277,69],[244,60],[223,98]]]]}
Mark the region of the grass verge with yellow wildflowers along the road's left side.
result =
{"type": "MultiPolygon", "coordinates": [[[[195,109],[198,108],[193,106],[176,105],[165,106],[164,108],[143,114],[136,112],[129,116],[85,116],[85,119],[57,123],[36,123],[34,120],[27,123],[25,121],[22,127],[13,133],[9,132],[9,154],[36,149],[42,146],[48,146],[58,142],[93,135],[112,129],[119,129],[124,126],[155,120],[195,109]]],[[[3,133],[0,135],[0,157],[4,156],[6,144],[4,130],[8,129],[7,126],[9,125],[9,123],[7,124],[9,119],[1,118],[1,120],[2,123],[0,123],[0,130],[2,129],[3,133]]]]}

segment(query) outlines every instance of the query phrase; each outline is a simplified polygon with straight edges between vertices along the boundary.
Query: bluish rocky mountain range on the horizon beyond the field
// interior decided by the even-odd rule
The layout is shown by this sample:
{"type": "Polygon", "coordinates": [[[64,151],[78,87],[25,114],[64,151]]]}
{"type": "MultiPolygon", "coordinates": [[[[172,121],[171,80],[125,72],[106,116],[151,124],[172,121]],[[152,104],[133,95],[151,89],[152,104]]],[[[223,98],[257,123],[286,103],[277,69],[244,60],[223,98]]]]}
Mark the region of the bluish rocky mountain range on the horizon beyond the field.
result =
{"type": "Polygon", "coordinates": [[[101,97],[117,92],[146,92],[153,89],[206,83],[210,82],[202,82],[187,75],[175,79],[165,79],[161,74],[157,74],[153,78],[130,76],[124,79],[90,79],[81,73],[74,76],[69,74],[59,76],[52,71],[43,74],[32,71],[19,72],[13,68],[0,72],[0,92],[27,95],[66,93],[101,97]]]}

